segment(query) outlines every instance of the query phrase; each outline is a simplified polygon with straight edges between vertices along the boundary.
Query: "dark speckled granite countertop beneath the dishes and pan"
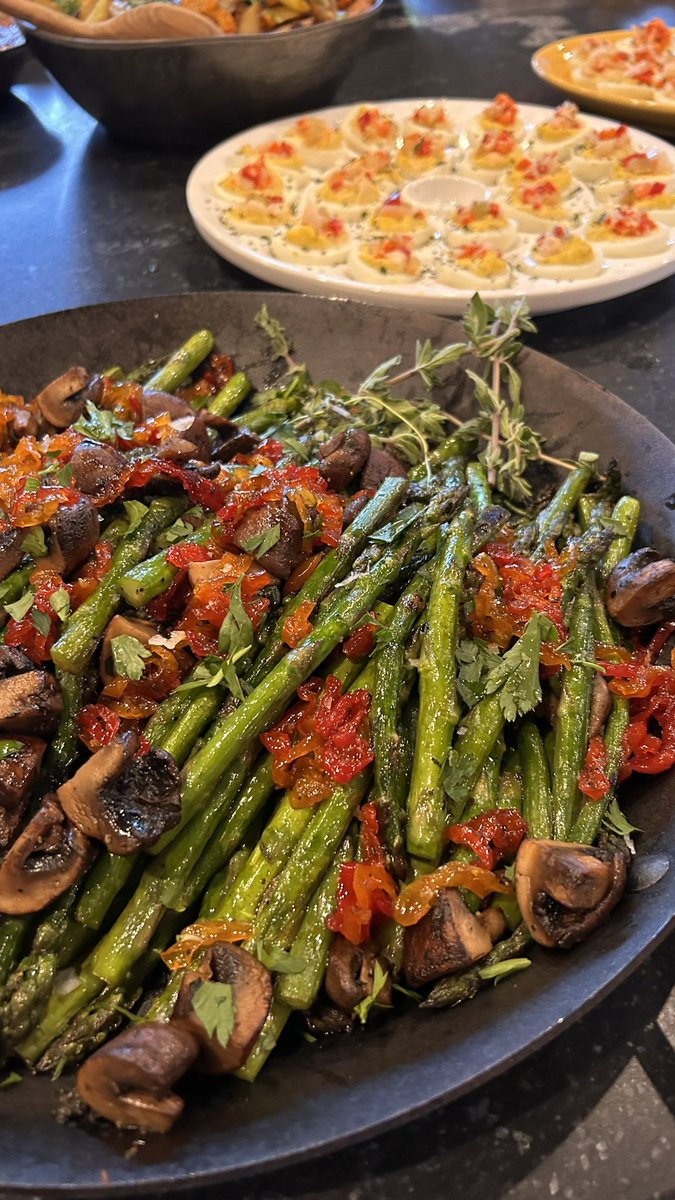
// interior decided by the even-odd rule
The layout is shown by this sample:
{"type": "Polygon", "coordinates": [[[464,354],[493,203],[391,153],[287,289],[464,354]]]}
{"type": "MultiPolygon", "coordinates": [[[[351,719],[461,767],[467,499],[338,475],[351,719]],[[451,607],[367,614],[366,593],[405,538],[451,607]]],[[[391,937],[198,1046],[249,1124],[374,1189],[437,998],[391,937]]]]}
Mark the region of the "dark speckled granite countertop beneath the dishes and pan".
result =
{"type": "MultiPolygon", "coordinates": [[[[506,89],[555,102],[528,70],[538,46],[655,12],[675,24],[673,5],[629,0],[387,0],[336,101],[506,89]]],[[[113,144],[29,64],[0,98],[0,323],[132,295],[258,287],[193,230],[191,166],[190,155],[113,144]]],[[[673,437],[674,301],[671,278],[540,318],[537,347],[673,437]]],[[[228,1186],[228,1200],[674,1196],[674,953],[671,936],[579,1025],[470,1097],[350,1152],[228,1186]]]]}

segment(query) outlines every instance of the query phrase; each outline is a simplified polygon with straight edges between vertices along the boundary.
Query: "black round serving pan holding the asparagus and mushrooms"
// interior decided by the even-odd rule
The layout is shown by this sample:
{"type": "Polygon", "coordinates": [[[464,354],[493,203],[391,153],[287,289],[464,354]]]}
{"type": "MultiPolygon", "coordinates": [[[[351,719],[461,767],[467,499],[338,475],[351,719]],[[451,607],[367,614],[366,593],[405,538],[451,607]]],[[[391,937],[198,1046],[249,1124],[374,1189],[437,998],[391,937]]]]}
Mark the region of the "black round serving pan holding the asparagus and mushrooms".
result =
{"type": "MultiPolygon", "coordinates": [[[[32,392],[73,362],[132,367],[166,353],[201,326],[216,334],[258,384],[271,365],[253,314],[265,300],[315,378],[357,384],[384,358],[410,360],[416,338],[454,341],[453,322],[393,308],[286,294],[203,293],[131,300],[38,317],[0,329],[0,385],[32,392]]],[[[643,502],[643,535],[675,548],[675,448],[598,384],[526,350],[520,359],[530,424],[554,455],[597,450],[616,457],[643,502]]],[[[450,400],[453,389],[446,392],[450,400]]],[[[656,877],[675,844],[673,780],[643,778],[623,806],[643,833],[641,870],[656,877]],[[651,872],[650,872],[651,868],[651,872]]],[[[412,1009],[351,1037],[282,1045],[255,1085],[190,1085],[186,1112],[169,1136],[148,1138],[58,1124],[56,1085],[24,1079],[0,1092],[0,1193],[78,1195],[179,1193],[348,1145],[460,1096],[513,1066],[598,1003],[674,923],[675,871],[628,892],[607,923],[566,954],[534,950],[534,966],[471,1003],[412,1009]]]]}

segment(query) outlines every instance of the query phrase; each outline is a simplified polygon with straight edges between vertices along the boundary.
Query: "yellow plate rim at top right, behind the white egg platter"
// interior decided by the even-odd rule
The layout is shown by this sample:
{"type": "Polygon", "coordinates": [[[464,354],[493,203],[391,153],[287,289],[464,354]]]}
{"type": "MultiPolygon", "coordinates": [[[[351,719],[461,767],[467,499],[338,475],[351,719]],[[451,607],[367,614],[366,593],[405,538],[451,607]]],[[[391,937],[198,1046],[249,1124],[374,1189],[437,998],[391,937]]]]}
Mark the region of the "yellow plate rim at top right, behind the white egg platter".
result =
{"type": "Polygon", "coordinates": [[[573,96],[584,103],[585,108],[616,116],[620,120],[641,125],[658,133],[675,134],[675,104],[662,104],[656,100],[632,100],[627,96],[614,97],[599,91],[590,84],[578,83],[572,78],[575,67],[575,53],[587,37],[607,37],[619,42],[627,37],[629,30],[613,29],[602,34],[584,34],[579,37],[567,37],[563,42],[549,42],[532,55],[532,70],[546,83],[573,96]]]}

